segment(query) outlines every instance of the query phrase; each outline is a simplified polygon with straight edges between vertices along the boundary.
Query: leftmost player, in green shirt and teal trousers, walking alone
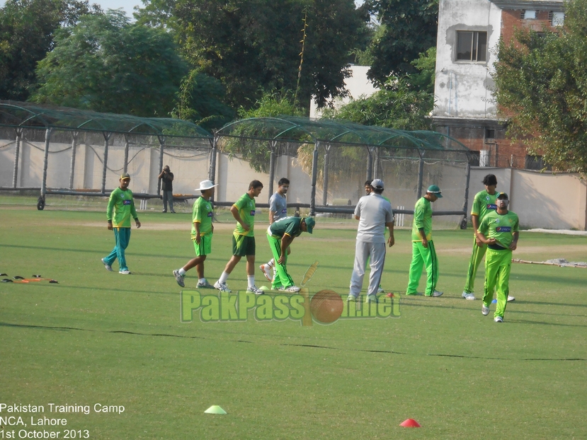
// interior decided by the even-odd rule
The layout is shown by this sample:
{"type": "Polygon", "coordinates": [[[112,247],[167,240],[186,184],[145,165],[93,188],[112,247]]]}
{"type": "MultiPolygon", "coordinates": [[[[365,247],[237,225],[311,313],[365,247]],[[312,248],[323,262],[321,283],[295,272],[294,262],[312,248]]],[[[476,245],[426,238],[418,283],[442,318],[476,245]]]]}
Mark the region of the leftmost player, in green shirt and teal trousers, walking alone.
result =
{"type": "Polygon", "coordinates": [[[118,258],[120,266],[118,273],[130,275],[126,265],[125,249],[130,241],[130,218],[135,219],[137,228],[141,227],[135,200],[132,199],[132,191],[128,189],[130,175],[124,173],[118,180],[120,186],[110,193],[108,207],[106,208],[106,219],[108,219],[108,231],[114,231],[114,249],[108,257],[102,258],[106,270],[112,270],[113,262],[118,258]]]}

